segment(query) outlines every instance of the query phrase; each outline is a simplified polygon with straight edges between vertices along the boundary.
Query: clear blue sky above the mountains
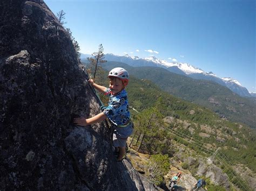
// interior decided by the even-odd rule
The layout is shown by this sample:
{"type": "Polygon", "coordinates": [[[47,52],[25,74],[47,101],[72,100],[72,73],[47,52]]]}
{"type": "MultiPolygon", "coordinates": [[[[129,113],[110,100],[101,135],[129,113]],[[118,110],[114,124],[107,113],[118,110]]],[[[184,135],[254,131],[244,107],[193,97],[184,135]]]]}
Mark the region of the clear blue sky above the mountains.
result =
{"type": "Polygon", "coordinates": [[[103,44],[104,53],[176,59],[256,92],[254,0],[44,2],[55,15],[66,12],[82,53],[103,44]]]}

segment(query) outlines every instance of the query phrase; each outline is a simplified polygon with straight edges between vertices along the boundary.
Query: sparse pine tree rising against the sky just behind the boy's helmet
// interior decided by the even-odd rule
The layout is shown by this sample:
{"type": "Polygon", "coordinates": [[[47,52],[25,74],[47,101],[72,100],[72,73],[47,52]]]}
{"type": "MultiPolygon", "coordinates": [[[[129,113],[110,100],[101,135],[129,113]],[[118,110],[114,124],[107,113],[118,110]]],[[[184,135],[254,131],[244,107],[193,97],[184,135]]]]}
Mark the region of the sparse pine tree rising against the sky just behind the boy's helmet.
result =
{"type": "Polygon", "coordinates": [[[98,67],[99,63],[106,62],[106,60],[104,60],[104,53],[103,53],[103,51],[104,51],[104,48],[103,48],[102,44],[100,44],[98,52],[93,52],[92,53],[92,57],[87,58],[87,60],[90,61],[91,65],[95,67],[94,75],[93,75],[94,79],[95,79],[95,76],[96,76],[97,67],[98,67]]]}

